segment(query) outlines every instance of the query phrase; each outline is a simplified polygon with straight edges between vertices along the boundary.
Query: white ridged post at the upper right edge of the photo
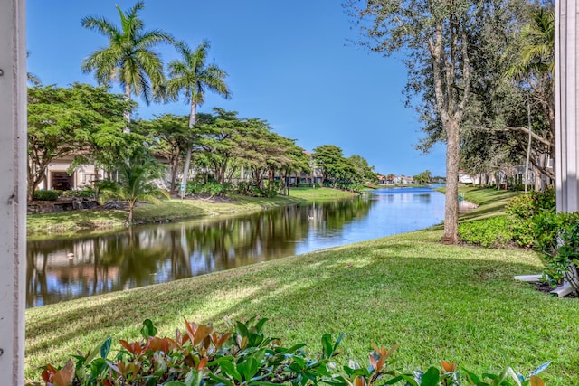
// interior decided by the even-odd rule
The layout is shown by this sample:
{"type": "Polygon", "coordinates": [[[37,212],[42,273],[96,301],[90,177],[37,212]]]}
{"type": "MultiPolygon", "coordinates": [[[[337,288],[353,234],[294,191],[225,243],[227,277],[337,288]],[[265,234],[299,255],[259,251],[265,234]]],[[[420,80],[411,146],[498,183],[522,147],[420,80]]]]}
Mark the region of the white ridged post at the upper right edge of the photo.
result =
{"type": "Polygon", "coordinates": [[[557,212],[579,211],[579,7],[555,1],[555,169],[557,212]]]}

